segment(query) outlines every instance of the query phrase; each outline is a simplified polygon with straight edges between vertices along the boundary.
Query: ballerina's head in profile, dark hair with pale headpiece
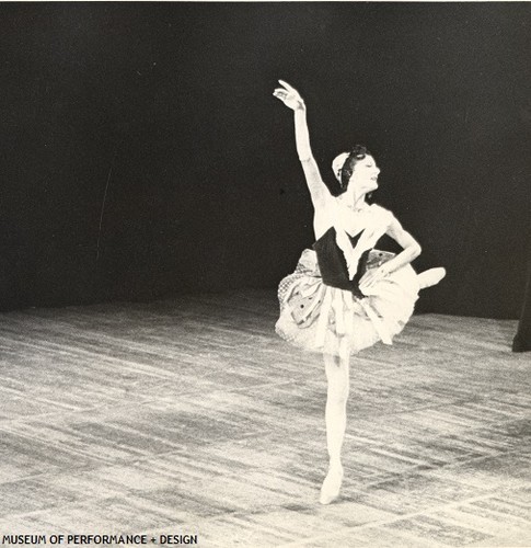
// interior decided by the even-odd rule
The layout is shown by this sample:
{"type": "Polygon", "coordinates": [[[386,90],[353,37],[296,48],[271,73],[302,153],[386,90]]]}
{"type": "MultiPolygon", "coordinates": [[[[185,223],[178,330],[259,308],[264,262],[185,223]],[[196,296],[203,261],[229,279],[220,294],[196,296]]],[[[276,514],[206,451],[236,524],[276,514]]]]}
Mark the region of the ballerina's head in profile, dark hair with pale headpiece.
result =
{"type": "Polygon", "coordinates": [[[343,152],[332,162],[332,169],[339,182],[340,194],[351,192],[367,194],[378,189],[378,174],[374,158],[361,145],[356,145],[350,152],[343,152]]]}

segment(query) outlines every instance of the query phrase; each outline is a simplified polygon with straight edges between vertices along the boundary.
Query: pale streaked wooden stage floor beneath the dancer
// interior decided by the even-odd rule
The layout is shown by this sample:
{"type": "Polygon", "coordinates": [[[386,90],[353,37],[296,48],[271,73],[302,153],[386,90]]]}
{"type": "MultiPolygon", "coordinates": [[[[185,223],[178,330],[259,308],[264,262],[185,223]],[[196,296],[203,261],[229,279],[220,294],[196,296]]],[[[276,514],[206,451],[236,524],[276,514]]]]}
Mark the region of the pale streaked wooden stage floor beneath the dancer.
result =
{"type": "Polygon", "coordinates": [[[321,506],[324,370],[276,317],[268,290],[3,313],[0,541],[531,547],[516,321],[415,316],[354,357],[343,495],[321,506]]]}

